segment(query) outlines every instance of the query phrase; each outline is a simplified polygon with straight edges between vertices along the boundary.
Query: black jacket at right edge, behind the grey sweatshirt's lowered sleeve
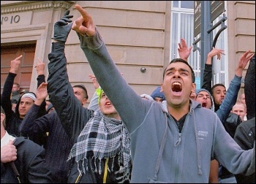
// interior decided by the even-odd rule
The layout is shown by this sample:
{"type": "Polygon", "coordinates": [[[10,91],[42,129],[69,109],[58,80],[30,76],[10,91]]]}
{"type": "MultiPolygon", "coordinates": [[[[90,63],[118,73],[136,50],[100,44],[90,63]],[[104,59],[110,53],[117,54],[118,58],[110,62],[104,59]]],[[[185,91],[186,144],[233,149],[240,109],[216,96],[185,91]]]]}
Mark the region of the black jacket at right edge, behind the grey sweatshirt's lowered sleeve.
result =
{"type": "MultiPolygon", "coordinates": [[[[253,148],[255,143],[255,118],[244,121],[236,129],[234,140],[243,150],[253,148]]],[[[237,183],[255,183],[255,173],[249,176],[235,175],[237,183]]]]}

